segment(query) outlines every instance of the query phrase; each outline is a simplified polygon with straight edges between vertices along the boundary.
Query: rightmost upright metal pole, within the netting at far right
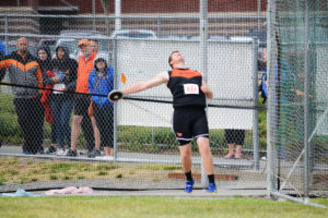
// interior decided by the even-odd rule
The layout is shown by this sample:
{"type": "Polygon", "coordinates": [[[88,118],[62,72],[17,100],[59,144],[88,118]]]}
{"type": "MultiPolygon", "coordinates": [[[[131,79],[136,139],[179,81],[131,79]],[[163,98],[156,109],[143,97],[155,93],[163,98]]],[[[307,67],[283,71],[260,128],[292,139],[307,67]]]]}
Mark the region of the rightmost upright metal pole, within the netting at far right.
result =
{"type": "Polygon", "coordinates": [[[308,125],[308,119],[309,119],[309,98],[307,97],[309,95],[309,2],[306,0],[305,2],[305,80],[304,80],[304,195],[308,195],[308,175],[309,175],[309,143],[308,143],[308,136],[309,136],[309,125],[308,125]]]}

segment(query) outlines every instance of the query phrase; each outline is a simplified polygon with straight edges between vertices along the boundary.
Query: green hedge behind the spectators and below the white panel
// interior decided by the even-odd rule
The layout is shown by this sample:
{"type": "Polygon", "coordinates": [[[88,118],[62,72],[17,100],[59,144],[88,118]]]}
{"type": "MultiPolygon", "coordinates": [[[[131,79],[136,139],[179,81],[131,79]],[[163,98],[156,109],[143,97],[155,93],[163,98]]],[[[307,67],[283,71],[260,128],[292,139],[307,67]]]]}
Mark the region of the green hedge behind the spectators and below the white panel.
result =
{"type": "MultiPolygon", "coordinates": [[[[13,106],[11,94],[1,94],[0,101],[0,140],[7,144],[23,144],[24,138],[21,128],[17,123],[15,108],[13,106]]],[[[265,107],[262,99],[259,98],[258,107],[265,107]]],[[[259,121],[259,147],[267,148],[267,111],[260,110],[258,113],[259,121]]],[[[45,122],[44,136],[50,138],[51,128],[45,122]]],[[[161,149],[177,150],[177,141],[171,128],[151,128],[151,126],[118,126],[117,137],[121,149],[127,152],[159,153],[161,149]]],[[[47,141],[45,141],[47,142],[47,141]]],[[[210,142],[213,152],[226,148],[224,130],[210,130],[210,142]]],[[[253,147],[251,131],[246,131],[245,147],[253,147]]],[[[83,133],[80,134],[78,146],[84,148],[86,141],[83,133]]],[[[194,152],[198,150],[195,142],[191,144],[194,152]]]]}

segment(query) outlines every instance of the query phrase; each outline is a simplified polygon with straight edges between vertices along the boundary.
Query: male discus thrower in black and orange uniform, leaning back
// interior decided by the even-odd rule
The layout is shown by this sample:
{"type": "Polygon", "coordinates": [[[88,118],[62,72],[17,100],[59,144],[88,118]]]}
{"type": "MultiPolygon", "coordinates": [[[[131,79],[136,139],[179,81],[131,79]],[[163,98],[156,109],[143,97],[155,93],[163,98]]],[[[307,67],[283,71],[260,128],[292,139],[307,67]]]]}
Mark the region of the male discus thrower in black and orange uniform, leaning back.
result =
{"type": "Polygon", "coordinates": [[[166,84],[173,95],[173,130],[178,140],[183,168],[186,174],[186,193],[192,192],[195,180],[191,175],[191,140],[197,140],[204,170],[209,177],[207,192],[216,192],[214,183],[213,159],[209,143],[209,128],[206,114],[206,98],[212,98],[213,93],[202,78],[201,73],[185,65],[185,59],[179,51],[173,51],[168,58],[172,71],[159,73],[154,78],[140,82],[122,90],[122,95],[166,84]]]}

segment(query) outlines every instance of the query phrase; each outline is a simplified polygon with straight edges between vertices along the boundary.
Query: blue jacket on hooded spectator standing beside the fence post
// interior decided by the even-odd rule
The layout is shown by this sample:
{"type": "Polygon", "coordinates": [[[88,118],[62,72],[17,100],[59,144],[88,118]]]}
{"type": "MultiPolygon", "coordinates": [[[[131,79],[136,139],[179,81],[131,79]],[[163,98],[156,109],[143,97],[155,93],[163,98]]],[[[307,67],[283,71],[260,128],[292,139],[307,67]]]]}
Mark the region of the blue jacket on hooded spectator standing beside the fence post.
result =
{"type": "MultiPolygon", "coordinates": [[[[89,93],[107,96],[114,88],[114,69],[112,65],[108,65],[105,75],[101,78],[96,89],[94,90],[94,87],[101,76],[98,74],[101,73],[97,72],[95,69],[91,71],[87,81],[89,93]]],[[[114,106],[114,104],[110,102],[107,97],[92,96],[92,100],[101,108],[114,106]]]]}

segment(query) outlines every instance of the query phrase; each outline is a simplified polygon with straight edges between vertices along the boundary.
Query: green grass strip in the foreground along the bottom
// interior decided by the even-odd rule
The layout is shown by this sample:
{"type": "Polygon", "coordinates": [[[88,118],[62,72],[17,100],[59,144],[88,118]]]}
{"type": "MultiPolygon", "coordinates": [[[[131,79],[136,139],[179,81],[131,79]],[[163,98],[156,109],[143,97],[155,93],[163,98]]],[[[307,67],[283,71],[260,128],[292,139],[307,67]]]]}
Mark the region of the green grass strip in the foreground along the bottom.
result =
{"type": "MultiPolygon", "coordinates": [[[[328,205],[328,198],[314,199],[328,205]]],[[[259,198],[0,197],[0,217],[328,217],[328,209],[259,198]]]]}

